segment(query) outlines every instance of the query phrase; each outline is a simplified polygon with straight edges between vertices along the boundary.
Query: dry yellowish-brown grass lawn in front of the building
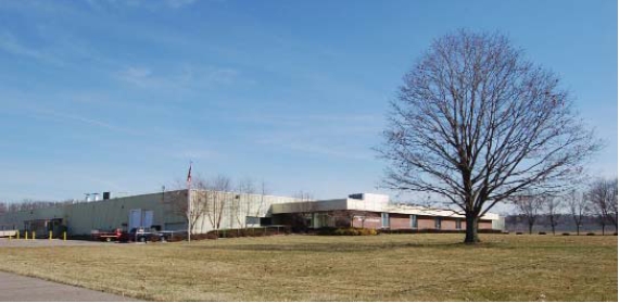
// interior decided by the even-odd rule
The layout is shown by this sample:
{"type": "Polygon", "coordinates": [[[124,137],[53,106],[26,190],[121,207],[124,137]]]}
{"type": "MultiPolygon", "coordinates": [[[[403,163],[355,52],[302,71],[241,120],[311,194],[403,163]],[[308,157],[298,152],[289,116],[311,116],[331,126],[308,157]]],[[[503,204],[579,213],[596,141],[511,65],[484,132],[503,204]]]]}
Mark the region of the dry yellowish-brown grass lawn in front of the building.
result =
{"type": "Polygon", "coordinates": [[[276,236],[0,248],[0,270],[155,301],[617,301],[617,237],[276,236]]]}

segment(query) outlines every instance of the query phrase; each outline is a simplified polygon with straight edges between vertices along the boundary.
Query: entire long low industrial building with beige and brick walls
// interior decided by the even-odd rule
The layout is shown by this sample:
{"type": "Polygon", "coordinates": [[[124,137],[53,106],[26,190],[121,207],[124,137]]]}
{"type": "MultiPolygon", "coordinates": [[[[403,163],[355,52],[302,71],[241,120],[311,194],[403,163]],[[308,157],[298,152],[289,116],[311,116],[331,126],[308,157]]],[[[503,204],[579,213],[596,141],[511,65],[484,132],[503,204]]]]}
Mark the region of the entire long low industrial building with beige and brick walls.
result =
{"type": "MultiPolygon", "coordinates": [[[[176,190],[132,197],[81,201],[53,207],[0,214],[0,230],[36,231],[71,236],[93,230],[155,228],[187,230],[191,200],[192,233],[270,225],[293,228],[366,227],[375,229],[465,229],[463,215],[446,210],[390,203],[383,194],[357,193],[343,199],[301,201],[291,197],[211,190],[176,190]],[[190,198],[188,199],[188,192],[190,198]]],[[[485,214],[480,229],[502,230],[503,218],[485,214]]]]}

